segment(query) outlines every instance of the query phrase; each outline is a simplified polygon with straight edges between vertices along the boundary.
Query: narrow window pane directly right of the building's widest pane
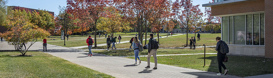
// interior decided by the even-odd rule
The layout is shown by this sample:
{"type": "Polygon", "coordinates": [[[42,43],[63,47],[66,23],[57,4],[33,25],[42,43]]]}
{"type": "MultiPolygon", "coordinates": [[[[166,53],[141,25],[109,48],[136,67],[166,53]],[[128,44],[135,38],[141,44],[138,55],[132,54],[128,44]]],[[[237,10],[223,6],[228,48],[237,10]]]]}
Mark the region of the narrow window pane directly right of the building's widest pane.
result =
{"type": "Polygon", "coordinates": [[[246,45],[252,45],[252,14],[246,15],[246,45]]]}

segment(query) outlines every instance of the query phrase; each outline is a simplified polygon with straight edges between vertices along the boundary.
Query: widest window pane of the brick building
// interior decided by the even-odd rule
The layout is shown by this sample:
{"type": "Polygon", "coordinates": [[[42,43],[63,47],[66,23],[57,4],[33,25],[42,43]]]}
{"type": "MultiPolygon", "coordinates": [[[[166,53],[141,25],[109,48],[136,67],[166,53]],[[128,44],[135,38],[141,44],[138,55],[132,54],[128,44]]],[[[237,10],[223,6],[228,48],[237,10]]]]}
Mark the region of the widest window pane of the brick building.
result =
{"type": "Polygon", "coordinates": [[[234,16],[234,44],[246,44],[246,16],[234,16]]]}

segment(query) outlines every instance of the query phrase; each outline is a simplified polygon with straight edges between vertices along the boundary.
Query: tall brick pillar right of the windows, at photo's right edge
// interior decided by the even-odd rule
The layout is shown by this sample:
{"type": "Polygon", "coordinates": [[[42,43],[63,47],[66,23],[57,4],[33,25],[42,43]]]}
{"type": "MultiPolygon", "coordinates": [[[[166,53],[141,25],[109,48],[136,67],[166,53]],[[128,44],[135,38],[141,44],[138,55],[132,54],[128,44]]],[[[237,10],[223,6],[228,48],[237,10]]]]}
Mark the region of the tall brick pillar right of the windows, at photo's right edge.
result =
{"type": "Polygon", "coordinates": [[[273,0],[265,0],[265,57],[273,58],[273,0]]]}

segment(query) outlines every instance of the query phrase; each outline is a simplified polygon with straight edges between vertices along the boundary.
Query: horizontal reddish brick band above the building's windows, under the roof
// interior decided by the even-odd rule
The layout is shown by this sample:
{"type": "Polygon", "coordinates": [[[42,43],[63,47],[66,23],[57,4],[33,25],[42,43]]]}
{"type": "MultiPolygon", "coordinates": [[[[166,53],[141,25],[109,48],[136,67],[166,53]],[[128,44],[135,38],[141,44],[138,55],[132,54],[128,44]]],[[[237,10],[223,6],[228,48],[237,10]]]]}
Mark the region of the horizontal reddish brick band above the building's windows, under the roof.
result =
{"type": "MultiPolygon", "coordinates": [[[[272,1],[272,0],[267,0],[272,1]]],[[[272,5],[272,4],[271,4],[272,5]]],[[[212,6],[212,16],[265,11],[265,0],[238,2],[212,6]]]]}

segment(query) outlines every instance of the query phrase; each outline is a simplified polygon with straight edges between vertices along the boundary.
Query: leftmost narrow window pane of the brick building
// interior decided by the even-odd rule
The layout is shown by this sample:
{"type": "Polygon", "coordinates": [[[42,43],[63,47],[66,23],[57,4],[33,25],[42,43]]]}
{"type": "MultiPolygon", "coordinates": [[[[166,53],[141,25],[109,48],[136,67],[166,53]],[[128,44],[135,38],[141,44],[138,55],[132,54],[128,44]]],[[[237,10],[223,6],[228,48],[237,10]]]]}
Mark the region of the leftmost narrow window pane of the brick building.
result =
{"type": "Polygon", "coordinates": [[[228,17],[222,17],[222,41],[228,43],[228,17]]]}

